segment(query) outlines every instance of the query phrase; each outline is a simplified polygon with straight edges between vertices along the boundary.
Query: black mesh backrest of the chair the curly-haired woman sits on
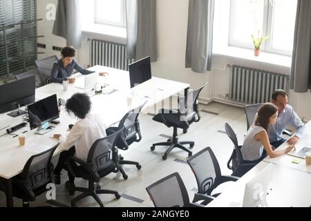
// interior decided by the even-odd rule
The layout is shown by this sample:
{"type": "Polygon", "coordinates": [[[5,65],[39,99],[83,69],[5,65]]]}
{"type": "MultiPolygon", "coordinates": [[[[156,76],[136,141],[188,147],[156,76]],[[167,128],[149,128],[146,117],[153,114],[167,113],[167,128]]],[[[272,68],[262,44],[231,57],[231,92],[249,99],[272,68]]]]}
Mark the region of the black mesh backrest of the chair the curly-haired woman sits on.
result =
{"type": "Polygon", "coordinates": [[[117,152],[115,150],[115,142],[120,136],[122,130],[98,139],[91,146],[88,152],[87,162],[93,165],[95,171],[102,171],[111,166],[111,160],[115,160],[117,152]],[[115,155],[116,154],[116,155],[115,155]]]}

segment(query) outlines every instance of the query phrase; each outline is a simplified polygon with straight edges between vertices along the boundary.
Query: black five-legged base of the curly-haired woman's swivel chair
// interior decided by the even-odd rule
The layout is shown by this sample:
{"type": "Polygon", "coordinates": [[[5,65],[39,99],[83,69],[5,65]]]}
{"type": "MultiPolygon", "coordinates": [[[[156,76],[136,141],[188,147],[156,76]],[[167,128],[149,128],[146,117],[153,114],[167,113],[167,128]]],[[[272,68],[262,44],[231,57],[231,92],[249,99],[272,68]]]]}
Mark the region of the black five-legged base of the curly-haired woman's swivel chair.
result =
{"type": "Polygon", "coordinates": [[[115,198],[117,198],[117,199],[121,198],[121,195],[119,193],[117,193],[117,191],[111,191],[111,190],[107,190],[107,189],[98,189],[97,185],[98,184],[96,183],[96,188],[95,188],[94,182],[93,181],[88,181],[88,188],[73,187],[73,191],[80,191],[80,192],[83,192],[83,193],[78,195],[73,200],[71,200],[71,206],[72,207],[77,207],[77,204],[76,204],[77,201],[82,200],[83,198],[86,198],[87,196],[91,196],[91,197],[94,198],[94,200],[96,200],[96,202],[98,204],[100,204],[100,207],[104,207],[104,204],[102,203],[102,200],[100,200],[100,198],[98,197],[97,194],[108,193],[108,194],[114,194],[115,198]]]}

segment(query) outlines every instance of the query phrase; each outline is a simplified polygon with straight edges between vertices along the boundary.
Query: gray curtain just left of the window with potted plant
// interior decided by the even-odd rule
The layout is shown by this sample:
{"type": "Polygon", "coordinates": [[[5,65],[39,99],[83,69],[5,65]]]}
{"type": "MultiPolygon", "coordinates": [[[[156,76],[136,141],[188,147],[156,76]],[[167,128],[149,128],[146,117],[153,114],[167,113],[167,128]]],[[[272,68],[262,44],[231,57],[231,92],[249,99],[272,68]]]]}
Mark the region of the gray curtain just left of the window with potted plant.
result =
{"type": "Polygon", "coordinates": [[[211,70],[214,0],[189,0],[186,68],[211,70]]]}

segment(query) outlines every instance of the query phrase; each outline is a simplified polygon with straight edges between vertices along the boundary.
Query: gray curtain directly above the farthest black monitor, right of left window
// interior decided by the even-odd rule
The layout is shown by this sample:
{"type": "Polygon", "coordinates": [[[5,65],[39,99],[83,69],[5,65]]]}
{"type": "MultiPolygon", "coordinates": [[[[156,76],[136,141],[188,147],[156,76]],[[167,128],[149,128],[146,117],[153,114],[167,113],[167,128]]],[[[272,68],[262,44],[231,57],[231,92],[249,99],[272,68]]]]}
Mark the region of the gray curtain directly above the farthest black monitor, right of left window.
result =
{"type": "Polygon", "coordinates": [[[128,59],[157,60],[156,0],[126,0],[128,59]]]}

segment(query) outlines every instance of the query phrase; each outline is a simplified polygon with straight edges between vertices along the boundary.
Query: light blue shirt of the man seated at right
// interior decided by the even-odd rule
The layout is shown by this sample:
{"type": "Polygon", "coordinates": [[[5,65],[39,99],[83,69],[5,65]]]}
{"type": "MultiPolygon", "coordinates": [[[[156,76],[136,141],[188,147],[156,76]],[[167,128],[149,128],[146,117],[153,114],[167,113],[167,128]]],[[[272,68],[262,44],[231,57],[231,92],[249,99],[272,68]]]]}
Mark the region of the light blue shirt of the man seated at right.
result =
{"type": "Polygon", "coordinates": [[[276,119],[276,124],[274,125],[270,124],[269,128],[270,143],[278,142],[279,140],[281,140],[282,138],[281,135],[285,130],[285,128],[288,126],[288,124],[296,128],[296,133],[294,133],[295,136],[301,138],[305,133],[305,125],[294,111],[294,108],[292,108],[292,106],[290,105],[287,105],[285,110],[282,113],[280,113],[279,117],[276,119]]]}

